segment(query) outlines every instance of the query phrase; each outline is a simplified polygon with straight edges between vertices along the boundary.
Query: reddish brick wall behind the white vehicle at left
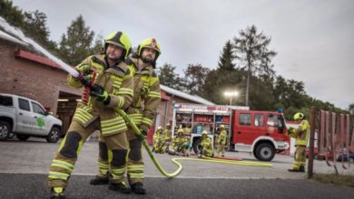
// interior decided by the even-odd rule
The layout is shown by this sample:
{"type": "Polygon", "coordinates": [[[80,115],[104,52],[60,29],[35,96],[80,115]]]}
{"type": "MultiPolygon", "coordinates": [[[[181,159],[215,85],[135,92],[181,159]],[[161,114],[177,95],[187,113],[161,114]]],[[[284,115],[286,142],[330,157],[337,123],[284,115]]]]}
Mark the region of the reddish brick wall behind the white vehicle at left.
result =
{"type": "Polygon", "coordinates": [[[59,90],[78,94],[66,83],[67,73],[41,63],[15,57],[21,46],[0,40],[0,92],[37,100],[56,113],[59,90]]]}

